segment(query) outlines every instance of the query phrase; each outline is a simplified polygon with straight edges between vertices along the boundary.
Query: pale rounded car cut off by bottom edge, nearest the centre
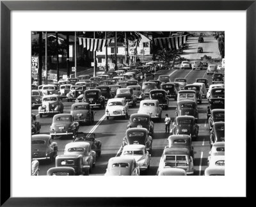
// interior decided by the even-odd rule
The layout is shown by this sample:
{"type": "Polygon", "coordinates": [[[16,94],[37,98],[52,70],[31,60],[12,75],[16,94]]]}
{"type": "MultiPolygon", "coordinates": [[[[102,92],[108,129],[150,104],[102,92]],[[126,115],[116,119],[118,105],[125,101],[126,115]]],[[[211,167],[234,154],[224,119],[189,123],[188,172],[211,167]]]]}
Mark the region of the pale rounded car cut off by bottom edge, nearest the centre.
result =
{"type": "Polygon", "coordinates": [[[112,157],[108,160],[105,176],[138,176],[140,168],[135,158],[112,157]]]}

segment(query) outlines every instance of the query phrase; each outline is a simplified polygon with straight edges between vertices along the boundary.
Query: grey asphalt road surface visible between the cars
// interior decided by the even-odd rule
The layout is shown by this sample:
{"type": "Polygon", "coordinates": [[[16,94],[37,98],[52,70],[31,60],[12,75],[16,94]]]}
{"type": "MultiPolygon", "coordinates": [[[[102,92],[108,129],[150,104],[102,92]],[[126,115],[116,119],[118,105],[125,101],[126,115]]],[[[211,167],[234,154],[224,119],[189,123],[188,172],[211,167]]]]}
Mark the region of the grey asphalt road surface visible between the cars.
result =
{"type": "MultiPolygon", "coordinates": [[[[205,38],[206,39],[206,38],[205,38]]],[[[195,43],[197,39],[193,39],[193,42],[195,43]]],[[[191,42],[191,43],[193,43],[191,42]]],[[[206,40],[205,40],[206,42],[206,40]]],[[[194,44],[193,43],[193,44],[194,44]]],[[[190,44],[190,43],[189,43],[190,44]]],[[[207,43],[205,43],[207,44],[207,43]]],[[[189,45],[190,47],[190,45],[189,45]]],[[[205,46],[207,47],[207,46],[205,46]]],[[[190,50],[196,50],[197,49],[190,49],[190,50]]],[[[190,58],[196,58],[194,55],[191,54],[190,58]]],[[[195,82],[196,78],[199,77],[205,77],[209,80],[209,84],[211,84],[211,76],[205,74],[205,70],[159,70],[156,74],[163,75],[168,74],[171,77],[171,80],[174,81],[177,77],[185,77],[188,81],[188,84],[191,84],[195,82]]],[[[66,102],[63,100],[64,104],[64,112],[69,113],[70,112],[70,105],[72,103],[66,102]]],[[[163,153],[164,146],[166,146],[166,139],[168,137],[168,134],[165,134],[164,129],[164,114],[169,114],[172,121],[174,119],[174,111],[175,106],[177,102],[174,100],[170,100],[169,103],[169,109],[167,111],[163,110],[163,118],[161,122],[154,123],[154,137],[153,137],[153,144],[152,144],[152,158],[150,160],[150,171],[148,175],[155,175],[157,171],[157,167],[159,165],[160,157],[163,153]]],[[[137,104],[136,107],[130,108],[129,115],[136,113],[138,111],[139,104],[137,104]]],[[[207,157],[209,155],[210,146],[209,146],[209,128],[207,123],[207,116],[206,116],[206,110],[207,110],[207,100],[204,99],[202,104],[198,105],[198,111],[199,111],[199,119],[198,119],[198,125],[199,125],[199,134],[198,139],[196,141],[193,141],[194,151],[195,151],[195,175],[203,175],[204,169],[207,167],[207,157]]],[[[37,110],[32,110],[33,113],[38,114],[37,110]]],[[[111,157],[115,157],[116,153],[120,149],[120,146],[122,144],[122,139],[125,134],[125,130],[127,127],[127,120],[121,119],[121,118],[109,118],[107,120],[106,118],[102,119],[102,116],[104,116],[104,110],[95,109],[95,122],[91,126],[81,126],[79,128],[79,131],[81,132],[90,132],[92,128],[98,123],[99,126],[95,128],[95,135],[97,139],[99,139],[102,142],[102,154],[97,159],[96,166],[92,171],[92,174],[90,175],[103,175],[106,173],[106,167],[108,164],[108,160],[111,157]],[[102,120],[102,121],[99,121],[102,120]]],[[[43,117],[39,118],[37,115],[37,118],[40,121],[40,124],[42,126],[41,128],[41,134],[49,134],[49,127],[52,123],[52,117],[43,117]]],[[[55,140],[58,144],[58,155],[63,154],[63,150],[65,148],[65,144],[70,142],[70,139],[56,139],[55,140]]],[[[54,163],[47,164],[47,162],[40,162],[40,175],[45,175],[47,172],[47,169],[50,167],[54,167],[54,163]]]]}

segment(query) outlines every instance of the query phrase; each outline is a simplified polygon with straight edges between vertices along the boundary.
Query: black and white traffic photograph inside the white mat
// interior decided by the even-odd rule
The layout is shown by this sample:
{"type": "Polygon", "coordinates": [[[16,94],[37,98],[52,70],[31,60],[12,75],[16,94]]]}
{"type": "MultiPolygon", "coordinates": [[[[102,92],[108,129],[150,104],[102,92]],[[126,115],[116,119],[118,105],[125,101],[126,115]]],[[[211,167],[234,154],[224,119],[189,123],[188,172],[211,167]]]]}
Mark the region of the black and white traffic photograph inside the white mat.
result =
{"type": "Polygon", "coordinates": [[[225,31],[31,31],[31,176],[80,175],[225,176],[225,31]]]}

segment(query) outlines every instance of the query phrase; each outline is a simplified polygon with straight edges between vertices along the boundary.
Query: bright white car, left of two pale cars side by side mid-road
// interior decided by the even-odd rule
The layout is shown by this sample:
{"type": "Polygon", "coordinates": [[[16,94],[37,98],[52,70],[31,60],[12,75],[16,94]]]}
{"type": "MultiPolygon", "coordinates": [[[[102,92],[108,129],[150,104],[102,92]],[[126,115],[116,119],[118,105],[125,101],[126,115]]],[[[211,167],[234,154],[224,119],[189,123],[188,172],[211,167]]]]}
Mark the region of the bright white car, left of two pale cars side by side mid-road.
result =
{"type": "Polygon", "coordinates": [[[124,98],[111,98],[108,100],[106,106],[106,118],[109,119],[111,116],[124,116],[128,118],[129,105],[125,103],[124,98]]]}

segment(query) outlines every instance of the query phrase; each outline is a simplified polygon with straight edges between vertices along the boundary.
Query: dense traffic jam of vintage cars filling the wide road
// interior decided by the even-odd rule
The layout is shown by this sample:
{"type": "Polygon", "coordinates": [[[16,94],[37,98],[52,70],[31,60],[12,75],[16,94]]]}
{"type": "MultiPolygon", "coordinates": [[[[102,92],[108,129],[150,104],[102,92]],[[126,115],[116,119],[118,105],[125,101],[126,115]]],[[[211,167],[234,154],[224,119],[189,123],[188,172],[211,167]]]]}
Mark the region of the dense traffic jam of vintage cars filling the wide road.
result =
{"type": "Polygon", "coordinates": [[[225,59],[202,54],[213,44],[191,35],[172,67],[136,61],[33,84],[31,175],[224,176],[225,59]]]}

